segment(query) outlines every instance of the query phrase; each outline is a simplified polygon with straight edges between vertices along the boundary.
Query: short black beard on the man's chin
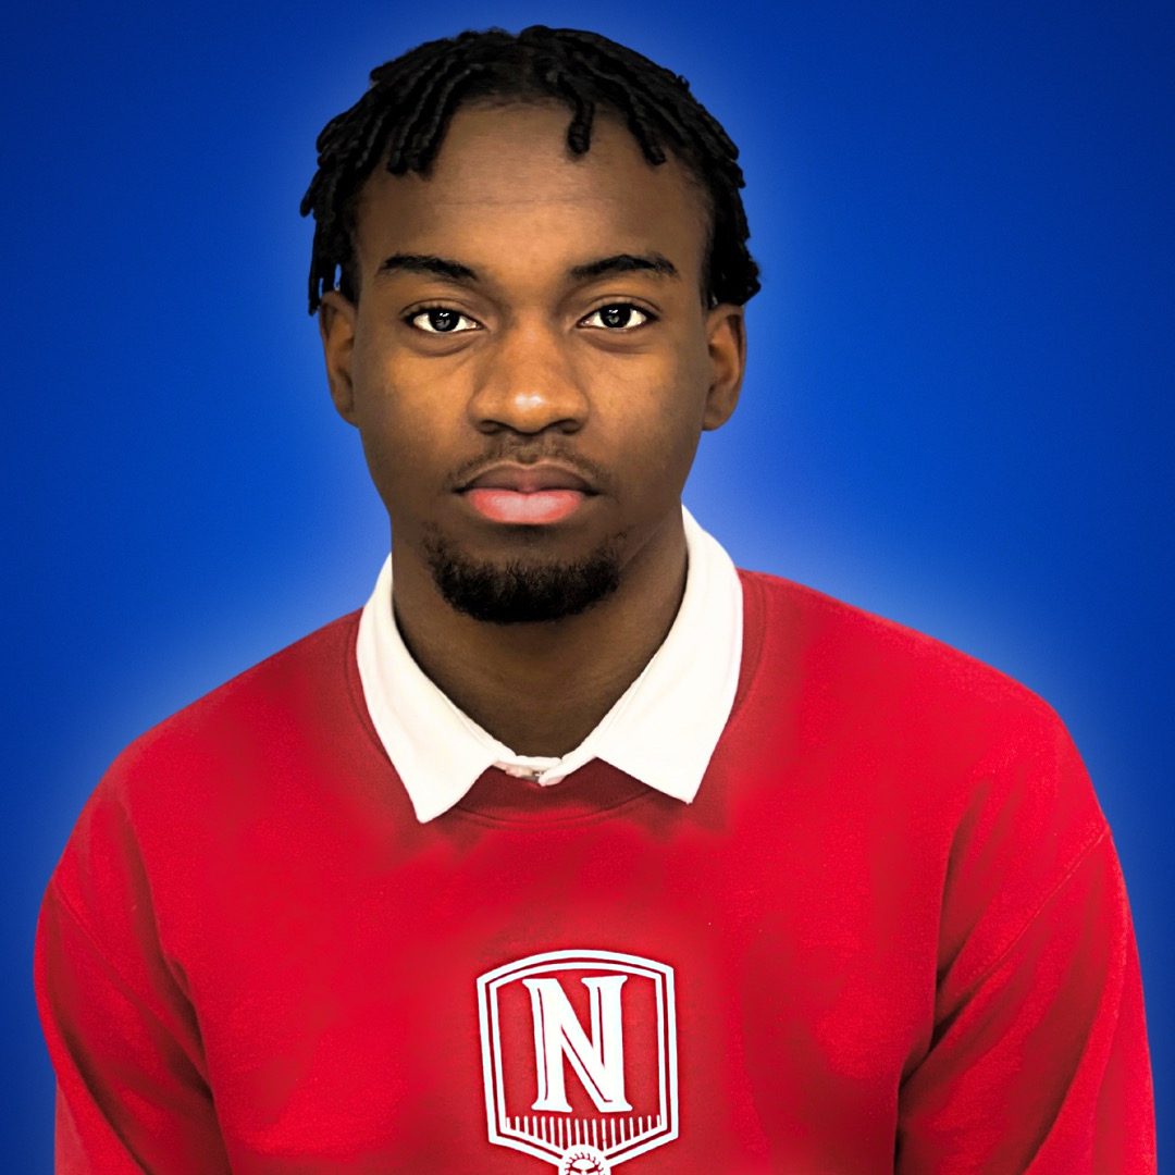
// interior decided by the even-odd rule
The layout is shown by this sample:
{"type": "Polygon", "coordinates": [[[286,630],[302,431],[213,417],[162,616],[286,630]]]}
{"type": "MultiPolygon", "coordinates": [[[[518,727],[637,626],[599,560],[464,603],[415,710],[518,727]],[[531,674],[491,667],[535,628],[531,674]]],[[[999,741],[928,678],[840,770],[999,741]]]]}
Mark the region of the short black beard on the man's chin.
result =
{"type": "Polygon", "coordinates": [[[564,563],[471,559],[439,535],[427,539],[425,551],[437,590],[458,612],[486,624],[540,624],[578,616],[616,591],[620,537],[564,563]]]}

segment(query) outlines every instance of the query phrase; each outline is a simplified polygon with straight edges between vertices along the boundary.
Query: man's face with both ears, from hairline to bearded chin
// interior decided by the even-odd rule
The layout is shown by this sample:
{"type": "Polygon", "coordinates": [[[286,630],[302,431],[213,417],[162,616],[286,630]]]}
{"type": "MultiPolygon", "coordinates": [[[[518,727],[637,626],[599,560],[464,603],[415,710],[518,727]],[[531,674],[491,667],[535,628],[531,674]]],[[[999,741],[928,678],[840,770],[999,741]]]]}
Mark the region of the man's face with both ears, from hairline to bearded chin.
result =
{"type": "Polygon", "coordinates": [[[679,533],[699,435],[741,378],[741,311],[701,302],[700,194],[607,116],[571,156],[569,116],[465,107],[428,179],[378,168],[357,304],[330,294],[321,317],[396,576],[428,569],[474,615],[454,592],[513,590],[482,619],[582,610],[679,533]]]}

